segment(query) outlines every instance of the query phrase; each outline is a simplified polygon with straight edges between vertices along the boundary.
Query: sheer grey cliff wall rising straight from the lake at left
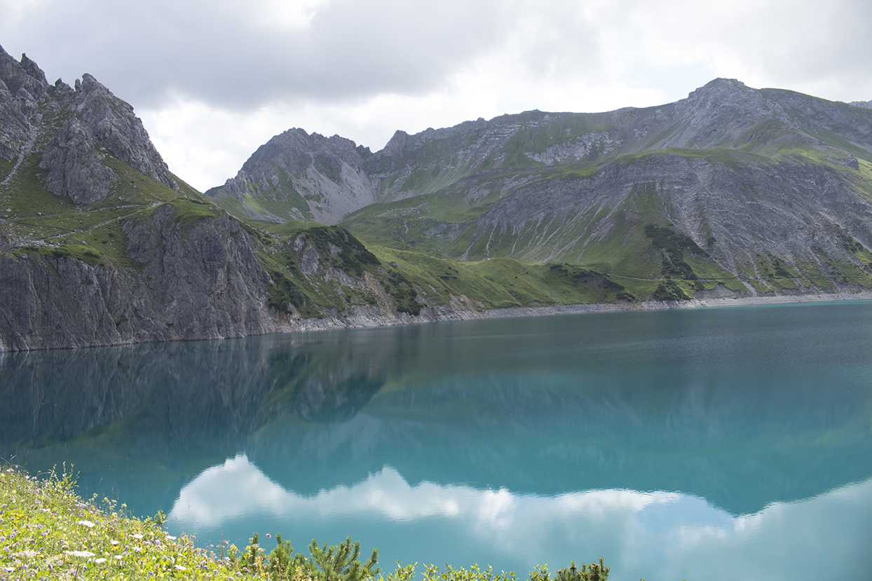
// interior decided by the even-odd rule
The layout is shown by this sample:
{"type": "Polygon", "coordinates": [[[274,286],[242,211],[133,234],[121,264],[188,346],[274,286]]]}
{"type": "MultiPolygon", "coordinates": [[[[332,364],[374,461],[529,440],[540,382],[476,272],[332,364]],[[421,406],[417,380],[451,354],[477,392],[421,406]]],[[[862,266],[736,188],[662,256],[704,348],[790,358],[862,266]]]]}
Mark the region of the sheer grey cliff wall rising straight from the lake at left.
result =
{"type": "Polygon", "coordinates": [[[128,224],[141,269],[0,257],[0,352],[271,332],[268,276],[226,215],[187,230],[168,206],[128,224]]]}

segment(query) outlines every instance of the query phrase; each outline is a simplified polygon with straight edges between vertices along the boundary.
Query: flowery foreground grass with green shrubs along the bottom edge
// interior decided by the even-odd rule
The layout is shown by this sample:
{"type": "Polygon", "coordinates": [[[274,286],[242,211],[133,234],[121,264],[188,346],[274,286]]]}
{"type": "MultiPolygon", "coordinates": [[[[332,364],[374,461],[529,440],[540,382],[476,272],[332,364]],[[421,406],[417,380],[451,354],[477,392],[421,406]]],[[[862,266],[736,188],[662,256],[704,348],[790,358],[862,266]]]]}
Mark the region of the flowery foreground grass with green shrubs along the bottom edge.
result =
{"type": "MultiPolygon", "coordinates": [[[[163,516],[140,520],[96,495],[85,501],[73,491],[75,481],[52,471],[42,478],[17,467],[0,471],[0,581],[13,579],[263,579],[280,581],[411,581],[416,564],[397,564],[385,578],[376,567],[378,551],[361,564],[360,544],[309,547],[311,558],[293,552],[276,538],[267,555],[252,537],[237,550],[223,543],[194,546],[194,537],[176,538],[163,530],[163,516]]],[[[554,581],[605,581],[609,567],[575,563],[557,571],[554,581]]],[[[425,565],[424,581],[515,581],[514,573],[425,565]]],[[[546,567],[530,572],[531,581],[550,581],[546,567]]]]}

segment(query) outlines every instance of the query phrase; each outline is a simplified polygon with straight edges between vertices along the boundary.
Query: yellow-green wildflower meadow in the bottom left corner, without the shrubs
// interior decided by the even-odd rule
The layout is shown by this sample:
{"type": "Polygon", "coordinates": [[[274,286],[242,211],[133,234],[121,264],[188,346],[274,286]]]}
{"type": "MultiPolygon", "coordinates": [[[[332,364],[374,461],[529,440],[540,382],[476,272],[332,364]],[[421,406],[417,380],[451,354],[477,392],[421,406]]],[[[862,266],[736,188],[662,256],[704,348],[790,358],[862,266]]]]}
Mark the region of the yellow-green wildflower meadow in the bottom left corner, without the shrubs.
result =
{"type": "MultiPolygon", "coordinates": [[[[83,501],[70,474],[0,472],[0,579],[236,579],[235,547],[199,549],[170,537],[162,519],[126,516],[126,505],[83,501]]],[[[268,575],[249,576],[268,579],[268,575]]]]}

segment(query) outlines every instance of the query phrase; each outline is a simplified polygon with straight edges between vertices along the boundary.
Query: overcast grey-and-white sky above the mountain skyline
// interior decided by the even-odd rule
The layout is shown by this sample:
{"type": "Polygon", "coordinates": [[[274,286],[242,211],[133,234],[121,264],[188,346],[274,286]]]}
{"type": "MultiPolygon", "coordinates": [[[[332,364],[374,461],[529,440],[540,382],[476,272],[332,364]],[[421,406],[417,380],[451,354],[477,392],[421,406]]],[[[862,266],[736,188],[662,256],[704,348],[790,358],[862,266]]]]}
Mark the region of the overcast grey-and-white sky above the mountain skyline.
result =
{"type": "Polygon", "coordinates": [[[378,151],[530,109],[683,99],[716,77],[872,99],[869,0],[0,0],[0,44],[133,105],[170,169],[221,185],[276,133],[378,151]]]}

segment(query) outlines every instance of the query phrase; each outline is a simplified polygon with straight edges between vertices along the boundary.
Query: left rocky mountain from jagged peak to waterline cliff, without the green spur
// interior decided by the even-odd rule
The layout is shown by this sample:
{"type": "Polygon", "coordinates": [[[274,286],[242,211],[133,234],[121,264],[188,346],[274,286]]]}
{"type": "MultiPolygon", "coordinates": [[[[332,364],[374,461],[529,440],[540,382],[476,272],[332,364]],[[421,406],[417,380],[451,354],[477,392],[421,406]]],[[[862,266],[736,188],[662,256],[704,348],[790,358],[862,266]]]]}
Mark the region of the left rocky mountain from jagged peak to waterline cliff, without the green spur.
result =
{"type": "Polygon", "coordinates": [[[91,75],[0,49],[0,351],[269,332],[248,233],[167,169],[91,75]]]}

